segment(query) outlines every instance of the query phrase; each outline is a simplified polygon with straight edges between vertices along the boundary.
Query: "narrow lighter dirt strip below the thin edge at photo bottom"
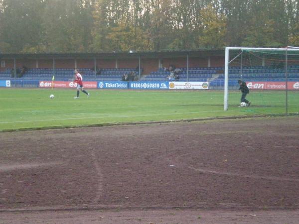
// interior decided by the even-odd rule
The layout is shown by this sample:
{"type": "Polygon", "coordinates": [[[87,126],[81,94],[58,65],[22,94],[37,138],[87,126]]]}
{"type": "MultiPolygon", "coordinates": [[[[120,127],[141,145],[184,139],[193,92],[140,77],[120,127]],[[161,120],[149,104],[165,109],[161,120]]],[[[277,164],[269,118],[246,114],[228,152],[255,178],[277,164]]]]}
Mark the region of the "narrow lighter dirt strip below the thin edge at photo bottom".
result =
{"type": "Polygon", "coordinates": [[[145,210],[0,213],[1,224],[298,224],[299,211],[145,210]]]}

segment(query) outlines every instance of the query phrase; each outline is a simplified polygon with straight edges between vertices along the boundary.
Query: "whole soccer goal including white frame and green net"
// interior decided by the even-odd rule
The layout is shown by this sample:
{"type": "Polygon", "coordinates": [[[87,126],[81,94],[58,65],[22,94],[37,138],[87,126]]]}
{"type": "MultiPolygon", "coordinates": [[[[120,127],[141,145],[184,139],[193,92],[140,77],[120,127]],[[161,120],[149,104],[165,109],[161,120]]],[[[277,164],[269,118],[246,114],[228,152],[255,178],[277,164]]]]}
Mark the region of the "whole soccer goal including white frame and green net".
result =
{"type": "MultiPolygon", "coordinates": [[[[240,106],[246,82],[252,113],[299,112],[299,48],[225,48],[224,110],[240,106]]],[[[242,105],[243,106],[243,105],[242,105]]],[[[237,109],[236,109],[237,110],[237,109]]]]}

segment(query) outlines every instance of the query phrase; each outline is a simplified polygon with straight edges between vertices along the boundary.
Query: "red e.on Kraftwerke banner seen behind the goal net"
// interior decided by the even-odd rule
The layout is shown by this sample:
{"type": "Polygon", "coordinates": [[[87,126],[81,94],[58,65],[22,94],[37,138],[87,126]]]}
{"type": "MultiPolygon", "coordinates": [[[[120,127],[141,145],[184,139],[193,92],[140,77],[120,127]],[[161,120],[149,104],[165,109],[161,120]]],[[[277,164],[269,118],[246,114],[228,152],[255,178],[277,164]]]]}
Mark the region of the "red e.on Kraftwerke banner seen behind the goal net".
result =
{"type": "MultiPolygon", "coordinates": [[[[251,90],[285,90],[285,82],[246,82],[251,90]]],[[[288,82],[288,90],[299,90],[299,82],[288,82]]]]}

